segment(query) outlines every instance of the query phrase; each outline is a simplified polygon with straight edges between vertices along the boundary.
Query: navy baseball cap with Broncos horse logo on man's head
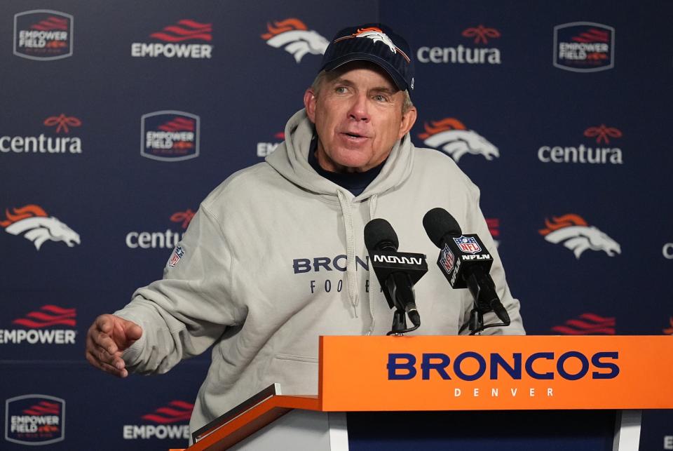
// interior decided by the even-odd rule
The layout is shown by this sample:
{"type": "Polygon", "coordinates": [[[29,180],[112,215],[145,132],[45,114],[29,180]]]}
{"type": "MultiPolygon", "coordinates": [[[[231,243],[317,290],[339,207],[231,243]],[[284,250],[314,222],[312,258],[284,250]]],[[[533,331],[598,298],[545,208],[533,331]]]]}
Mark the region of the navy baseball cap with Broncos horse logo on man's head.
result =
{"type": "Polygon", "coordinates": [[[386,25],[370,23],[342,29],[327,46],[320,70],[329,72],[355,60],[383,67],[400,90],[411,93],[414,89],[412,48],[386,25]]]}

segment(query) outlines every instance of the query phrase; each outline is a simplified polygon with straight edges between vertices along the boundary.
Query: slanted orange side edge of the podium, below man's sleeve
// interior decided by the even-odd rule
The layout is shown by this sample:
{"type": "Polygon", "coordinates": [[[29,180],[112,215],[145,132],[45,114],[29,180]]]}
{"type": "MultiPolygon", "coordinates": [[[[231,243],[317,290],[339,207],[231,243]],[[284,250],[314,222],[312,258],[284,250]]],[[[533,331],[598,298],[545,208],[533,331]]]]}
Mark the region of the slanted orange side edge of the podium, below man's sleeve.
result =
{"type": "Polygon", "coordinates": [[[293,409],[320,410],[320,400],[318,396],[272,396],[223,424],[187,451],[226,450],[293,409]]]}

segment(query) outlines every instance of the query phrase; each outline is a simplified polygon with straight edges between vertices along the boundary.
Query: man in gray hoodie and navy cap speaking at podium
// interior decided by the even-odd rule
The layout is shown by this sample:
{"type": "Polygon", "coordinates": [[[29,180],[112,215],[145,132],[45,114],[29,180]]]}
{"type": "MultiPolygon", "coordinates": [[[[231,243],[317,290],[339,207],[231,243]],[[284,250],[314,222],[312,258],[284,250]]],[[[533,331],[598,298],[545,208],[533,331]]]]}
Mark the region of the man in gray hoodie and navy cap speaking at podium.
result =
{"type": "MultiPolygon", "coordinates": [[[[523,334],[477,187],[453,160],[411,142],[408,55],[383,25],[341,30],[286,141],[201,203],[163,280],[96,319],[88,361],[120,377],[161,373],[215,344],[192,430],[274,382],[285,394],[317,393],[319,335],[382,335],[392,319],[368,271],[365,224],[383,217],[402,249],[436,255],[421,223],[434,207],[495,254],[491,275],[512,324],[486,333],[523,334]]],[[[473,305],[436,269],[416,285],[416,300],[422,334],[457,334],[473,305]]]]}

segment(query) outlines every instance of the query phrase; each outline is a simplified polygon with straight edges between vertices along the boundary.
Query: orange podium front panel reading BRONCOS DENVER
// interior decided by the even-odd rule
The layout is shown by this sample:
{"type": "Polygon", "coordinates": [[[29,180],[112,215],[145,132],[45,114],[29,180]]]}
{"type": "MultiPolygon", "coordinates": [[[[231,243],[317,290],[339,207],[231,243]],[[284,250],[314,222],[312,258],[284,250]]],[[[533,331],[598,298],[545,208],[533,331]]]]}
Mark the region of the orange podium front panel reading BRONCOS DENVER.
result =
{"type": "Polygon", "coordinates": [[[673,337],[320,337],[320,410],[673,408],[673,337]]]}

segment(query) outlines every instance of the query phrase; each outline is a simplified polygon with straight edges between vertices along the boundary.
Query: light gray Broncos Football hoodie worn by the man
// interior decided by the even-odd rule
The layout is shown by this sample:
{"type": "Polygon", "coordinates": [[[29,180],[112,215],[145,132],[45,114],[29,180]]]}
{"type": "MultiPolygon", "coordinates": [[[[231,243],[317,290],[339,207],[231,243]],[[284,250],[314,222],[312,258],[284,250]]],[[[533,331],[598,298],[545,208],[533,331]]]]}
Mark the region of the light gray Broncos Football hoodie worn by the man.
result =
{"type": "MultiPolygon", "coordinates": [[[[123,354],[129,370],[163,373],[212,349],[190,427],[194,431],[274,382],[283,394],[318,393],[320,335],[383,335],[393,314],[370,277],[362,231],[382,217],[400,251],[428,256],[416,284],[422,318],[412,335],[456,335],[472,297],[452,290],[434,265],[423,230],[430,208],[448,210],[494,255],[491,276],[512,324],[484,333],[522,335],[519,302],[479,208],[479,190],[454,161],[416,149],[409,135],[359,196],[308,163],[313,125],[304,110],[285,126],[286,141],[266,162],[227,178],[201,203],[161,281],[140,288],[116,314],[142,337],[123,354]]],[[[496,323],[493,314],[484,323],[496,323]]]]}

